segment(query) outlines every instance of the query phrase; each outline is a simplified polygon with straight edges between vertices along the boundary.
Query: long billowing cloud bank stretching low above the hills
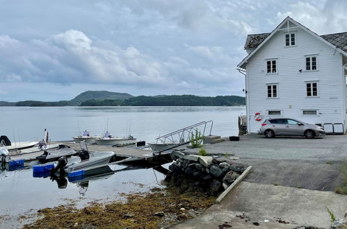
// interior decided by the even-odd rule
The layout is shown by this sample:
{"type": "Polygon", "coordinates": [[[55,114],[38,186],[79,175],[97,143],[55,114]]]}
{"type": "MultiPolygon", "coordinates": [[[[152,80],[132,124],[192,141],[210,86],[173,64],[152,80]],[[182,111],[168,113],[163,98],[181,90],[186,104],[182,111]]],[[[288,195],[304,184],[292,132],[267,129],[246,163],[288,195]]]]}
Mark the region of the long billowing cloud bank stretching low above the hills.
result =
{"type": "MultiPolygon", "coordinates": [[[[0,37],[0,80],[4,83],[90,83],[194,89],[223,83],[234,72],[233,58],[221,46],[188,46],[200,62],[178,56],[160,61],[134,46],[92,40],[69,30],[45,40],[23,42],[0,37]],[[212,63],[218,63],[213,65],[212,63]]],[[[239,79],[239,78],[236,78],[239,79]]]]}

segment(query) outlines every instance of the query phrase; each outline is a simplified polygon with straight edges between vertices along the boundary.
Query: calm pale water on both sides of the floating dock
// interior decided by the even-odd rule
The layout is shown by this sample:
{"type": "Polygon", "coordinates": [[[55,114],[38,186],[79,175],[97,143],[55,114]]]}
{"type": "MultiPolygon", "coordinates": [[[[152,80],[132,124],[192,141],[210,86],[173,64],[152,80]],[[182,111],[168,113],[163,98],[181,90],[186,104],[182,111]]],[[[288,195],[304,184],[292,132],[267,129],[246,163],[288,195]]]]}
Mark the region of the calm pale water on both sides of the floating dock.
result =
{"type": "MultiPolygon", "coordinates": [[[[238,133],[237,117],[245,107],[127,107],[127,108],[17,108],[0,107],[0,135],[21,141],[43,137],[47,128],[52,141],[70,140],[79,131],[101,135],[106,129],[113,135],[152,142],[159,135],[200,121],[213,120],[212,134],[238,133]]],[[[168,165],[164,166],[168,167],[168,165]]],[[[154,169],[136,169],[77,182],[34,178],[32,169],[0,171],[0,228],[20,225],[21,214],[42,207],[54,207],[74,200],[78,205],[90,201],[111,201],[120,193],[144,192],[159,187],[162,173],[154,169]]]]}

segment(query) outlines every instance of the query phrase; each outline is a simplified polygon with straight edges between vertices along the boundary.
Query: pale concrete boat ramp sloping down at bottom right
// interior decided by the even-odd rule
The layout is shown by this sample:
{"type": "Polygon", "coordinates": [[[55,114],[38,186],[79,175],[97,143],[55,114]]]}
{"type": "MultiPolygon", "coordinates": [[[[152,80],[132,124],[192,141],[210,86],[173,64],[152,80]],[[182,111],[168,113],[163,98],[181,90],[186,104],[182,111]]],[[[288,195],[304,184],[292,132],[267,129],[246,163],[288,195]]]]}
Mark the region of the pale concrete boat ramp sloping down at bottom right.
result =
{"type": "MultiPolygon", "coordinates": [[[[337,219],[344,219],[347,196],[294,187],[242,182],[219,205],[174,228],[218,228],[228,222],[232,228],[328,228],[328,207],[337,219]],[[245,214],[245,218],[236,217],[245,214]],[[279,223],[281,219],[287,223],[279,223]],[[266,222],[265,222],[266,221],[266,222]],[[255,226],[253,223],[259,223],[255,226]]],[[[227,228],[227,227],[225,227],[227,228]]]]}

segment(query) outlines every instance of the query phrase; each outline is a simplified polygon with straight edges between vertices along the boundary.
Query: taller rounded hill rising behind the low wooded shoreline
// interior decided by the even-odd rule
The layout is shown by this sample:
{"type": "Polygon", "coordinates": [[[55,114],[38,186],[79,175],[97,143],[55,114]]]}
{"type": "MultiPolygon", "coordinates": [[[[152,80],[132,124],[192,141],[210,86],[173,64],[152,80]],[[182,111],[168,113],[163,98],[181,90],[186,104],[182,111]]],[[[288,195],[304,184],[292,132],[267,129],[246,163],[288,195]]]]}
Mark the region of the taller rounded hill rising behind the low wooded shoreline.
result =
{"type": "Polygon", "coordinates": [[[120,93],[120,92],[108,92],[108,91],[86,91],[78,96],[74,97],[74,99],[70,100],[70,105],[79,105],[79,103],[82,103],[84,101],[88,101],[91,99],[95,100],[104,100],[104,99],[113,99],[113,100],[122,100],[130,99],[134,96],[127,93],[120,93]]]}

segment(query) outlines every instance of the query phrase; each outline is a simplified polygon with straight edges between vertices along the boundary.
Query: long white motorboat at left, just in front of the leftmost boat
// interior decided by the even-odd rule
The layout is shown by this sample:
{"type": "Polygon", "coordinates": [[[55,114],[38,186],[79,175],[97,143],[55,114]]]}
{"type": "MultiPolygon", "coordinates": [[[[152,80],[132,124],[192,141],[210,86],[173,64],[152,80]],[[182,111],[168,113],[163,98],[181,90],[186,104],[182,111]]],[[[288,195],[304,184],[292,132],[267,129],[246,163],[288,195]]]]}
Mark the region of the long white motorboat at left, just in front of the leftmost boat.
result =
{"type": "Polygon", "coordinates": [[[10,162],[12,160],[24,160],[24,161],[31,161],[36,160],[36,157],[39,155],[42,155],[44,151],[47,150],[56,150],[58,149],[60,144],[49,144],[47,146],[34,146],[28,149],[21,149],[21,150],[13,150],[9,151],[8,155],[6,155],[5,161],[10,162]]]}

